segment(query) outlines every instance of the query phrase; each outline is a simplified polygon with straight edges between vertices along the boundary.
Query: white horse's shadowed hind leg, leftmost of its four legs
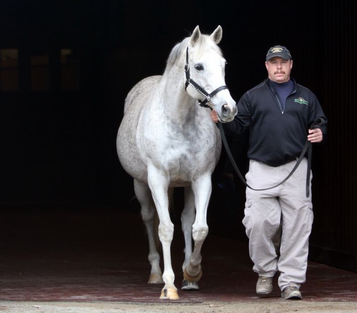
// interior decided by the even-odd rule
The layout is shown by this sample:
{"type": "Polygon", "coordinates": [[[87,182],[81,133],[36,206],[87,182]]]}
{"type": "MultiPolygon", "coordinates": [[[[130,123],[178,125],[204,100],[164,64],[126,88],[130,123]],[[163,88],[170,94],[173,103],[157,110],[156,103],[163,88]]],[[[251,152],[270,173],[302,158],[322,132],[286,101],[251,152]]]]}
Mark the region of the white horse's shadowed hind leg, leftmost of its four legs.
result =
{"type": "Polygon", "coordinates": [[[163,274],[160,268],[160,255],[157,252],[158,245],[160,244],[157,238],[157,214],[153,206],[151,191],[146,184],[136,179],[134,179],[134,190],[141,206],[141,217],[145,223],[149,240],[148,259],[151,264],[151,272],[148,283],[162,284],[164,283],[163,274]]]}

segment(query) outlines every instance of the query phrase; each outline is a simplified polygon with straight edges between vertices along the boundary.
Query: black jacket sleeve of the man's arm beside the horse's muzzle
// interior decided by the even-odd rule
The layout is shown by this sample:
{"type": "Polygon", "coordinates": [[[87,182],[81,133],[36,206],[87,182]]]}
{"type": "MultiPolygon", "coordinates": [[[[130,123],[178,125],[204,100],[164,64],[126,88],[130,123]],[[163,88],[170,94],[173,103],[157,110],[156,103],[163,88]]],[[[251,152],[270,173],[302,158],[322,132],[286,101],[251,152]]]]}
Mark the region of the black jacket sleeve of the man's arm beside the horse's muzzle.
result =
{"type": "Polygon", "coordinates": [[[234,120],[223,124],[224,133],[229,136],[241,134],[252,121],[252,107],[249,92],[246,92],[237,103],[238,112],[234,120]]]}

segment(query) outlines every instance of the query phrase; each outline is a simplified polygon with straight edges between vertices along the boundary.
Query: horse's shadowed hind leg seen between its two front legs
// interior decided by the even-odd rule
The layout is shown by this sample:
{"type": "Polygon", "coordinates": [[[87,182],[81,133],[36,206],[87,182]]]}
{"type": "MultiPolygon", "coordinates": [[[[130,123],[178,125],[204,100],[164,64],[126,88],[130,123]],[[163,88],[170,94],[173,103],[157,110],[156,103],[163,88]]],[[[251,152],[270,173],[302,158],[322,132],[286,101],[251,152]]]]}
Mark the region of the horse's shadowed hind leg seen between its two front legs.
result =
{"type": "MultiPolygon", "coordinates": [[[[194,222],[194,194],[191,189],[191,186],[184,188],[185,193],[185,206],[181,214],[181,225],[183,236],[185,239],[185,261],[182,265],[182,270],[184,271],[191,253],[192,253],[192,224],[194,222]]],[[[185,279],[182,281],[182,290],[199,290],[200,287],[195,282],[188,282],[185,279]]]]}

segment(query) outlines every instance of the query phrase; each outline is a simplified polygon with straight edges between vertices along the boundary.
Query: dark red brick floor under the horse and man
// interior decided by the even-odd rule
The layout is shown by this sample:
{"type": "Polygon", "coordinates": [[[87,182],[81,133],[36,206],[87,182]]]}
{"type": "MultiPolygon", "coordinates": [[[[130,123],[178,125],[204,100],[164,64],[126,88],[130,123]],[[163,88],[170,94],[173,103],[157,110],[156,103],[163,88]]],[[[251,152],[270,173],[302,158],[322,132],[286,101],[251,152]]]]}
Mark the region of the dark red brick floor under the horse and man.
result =
{"type": "MultiPolygon", "coordinates": [[[[148,285],[147,241],[140,215],[130,212],[12,211],[0,221],[0,300],[160,300],[148,285]]],[[[182,281],[183,239],[175,227],[173,268],[182,281]]],[[[256,275],[245,242],[209,233],[200,291],[178,290],[175,302],[257,300],[256,275]]],[[[309,262],[304,300],[357,301],[357,273],[309,262]]],[[[276,300],[273,292],[264,299],[276,300]]]]}

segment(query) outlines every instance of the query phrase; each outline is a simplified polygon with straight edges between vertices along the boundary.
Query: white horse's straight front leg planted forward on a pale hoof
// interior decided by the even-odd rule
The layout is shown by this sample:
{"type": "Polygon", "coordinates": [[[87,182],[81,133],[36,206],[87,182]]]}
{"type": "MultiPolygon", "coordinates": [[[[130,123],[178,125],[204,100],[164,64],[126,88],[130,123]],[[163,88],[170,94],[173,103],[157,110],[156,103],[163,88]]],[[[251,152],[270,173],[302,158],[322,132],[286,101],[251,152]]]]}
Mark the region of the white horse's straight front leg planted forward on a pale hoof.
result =
{"type": "Polygon", "coordinates": [[[169,180],[154,166],[148,167],[148,184],[155,203],[160,224],[158,225],[158,237],[163,246],[165,286],[160,299],[178,299],[177,289],[174,285],[175,275],[171,265],[171,242],[174,234],[174,224],[169,214],[168,187],[169,180]]]}

